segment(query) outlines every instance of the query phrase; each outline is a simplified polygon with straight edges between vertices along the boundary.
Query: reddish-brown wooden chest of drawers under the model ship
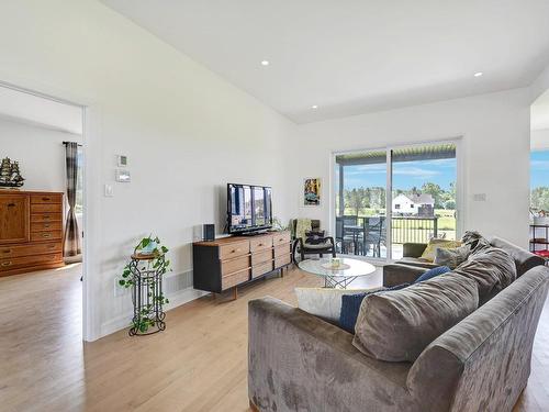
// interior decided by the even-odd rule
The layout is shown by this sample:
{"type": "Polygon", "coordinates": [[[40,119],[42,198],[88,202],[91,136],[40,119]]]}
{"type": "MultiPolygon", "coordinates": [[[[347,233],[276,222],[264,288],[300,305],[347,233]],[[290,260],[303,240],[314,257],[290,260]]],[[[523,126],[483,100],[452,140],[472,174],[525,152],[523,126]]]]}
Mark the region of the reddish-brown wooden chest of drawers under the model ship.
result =
{"type": "Polygon", "coordinates": [[[0,190],[0,276],[63,265],[63,193],[0,190]]]}

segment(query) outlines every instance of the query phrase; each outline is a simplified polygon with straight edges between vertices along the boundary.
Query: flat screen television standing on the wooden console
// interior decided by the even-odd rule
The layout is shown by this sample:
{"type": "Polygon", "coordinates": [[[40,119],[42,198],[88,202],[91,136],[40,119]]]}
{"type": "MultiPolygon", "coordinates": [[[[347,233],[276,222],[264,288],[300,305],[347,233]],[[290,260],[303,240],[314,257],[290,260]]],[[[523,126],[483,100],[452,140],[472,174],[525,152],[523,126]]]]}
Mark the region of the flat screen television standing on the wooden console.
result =
{"type": "Polygon", "coordinates": [[[272,227],[272,189],[228,183],[227,227],[231,234],[251,234],[272,227]]]}

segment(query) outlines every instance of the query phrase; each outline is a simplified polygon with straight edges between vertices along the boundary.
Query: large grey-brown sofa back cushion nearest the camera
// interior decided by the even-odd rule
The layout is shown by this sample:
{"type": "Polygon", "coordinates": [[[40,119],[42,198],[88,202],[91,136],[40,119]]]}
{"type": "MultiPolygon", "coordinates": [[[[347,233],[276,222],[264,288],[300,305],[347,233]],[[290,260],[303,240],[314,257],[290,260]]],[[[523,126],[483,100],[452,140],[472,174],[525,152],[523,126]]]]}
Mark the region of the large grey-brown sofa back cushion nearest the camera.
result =
{"type": "Polygon", "coordinates": [[[352,344],[385,361],[414,361],[439,335],[479,305],[477,282],[447,274],[388,293],[367,296],[352,344]]]}

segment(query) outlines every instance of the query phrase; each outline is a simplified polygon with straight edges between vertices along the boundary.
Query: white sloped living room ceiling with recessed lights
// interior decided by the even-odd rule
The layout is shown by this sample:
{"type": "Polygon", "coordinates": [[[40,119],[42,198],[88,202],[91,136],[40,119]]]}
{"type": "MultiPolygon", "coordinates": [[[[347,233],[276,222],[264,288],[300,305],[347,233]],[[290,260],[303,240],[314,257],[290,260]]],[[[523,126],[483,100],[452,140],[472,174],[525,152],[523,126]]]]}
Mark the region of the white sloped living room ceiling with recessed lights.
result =
{"type": "Polygon", "coordinates": [[[549,63],[549,0],[102,2],[298,123],[523,87],[549,63]]]}

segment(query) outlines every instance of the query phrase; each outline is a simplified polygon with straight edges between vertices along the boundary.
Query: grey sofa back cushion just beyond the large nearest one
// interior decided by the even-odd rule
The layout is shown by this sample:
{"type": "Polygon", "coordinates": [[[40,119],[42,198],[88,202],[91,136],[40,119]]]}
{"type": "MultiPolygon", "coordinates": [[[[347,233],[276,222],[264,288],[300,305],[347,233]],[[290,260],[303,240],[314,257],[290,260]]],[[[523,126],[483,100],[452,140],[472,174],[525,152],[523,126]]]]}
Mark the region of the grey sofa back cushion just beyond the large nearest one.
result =
{"type": "Polygon", "coordinates": [[[488,302],[516,279],[513,258],[505,250],[493,246],[475,248],[453,272],[477,282],[480,304],[488,302]]]}

